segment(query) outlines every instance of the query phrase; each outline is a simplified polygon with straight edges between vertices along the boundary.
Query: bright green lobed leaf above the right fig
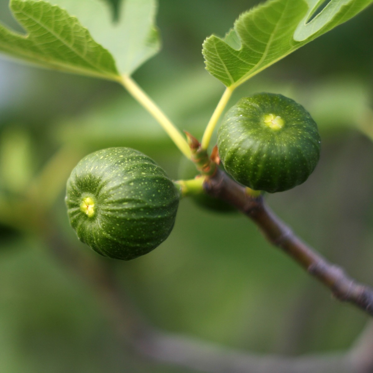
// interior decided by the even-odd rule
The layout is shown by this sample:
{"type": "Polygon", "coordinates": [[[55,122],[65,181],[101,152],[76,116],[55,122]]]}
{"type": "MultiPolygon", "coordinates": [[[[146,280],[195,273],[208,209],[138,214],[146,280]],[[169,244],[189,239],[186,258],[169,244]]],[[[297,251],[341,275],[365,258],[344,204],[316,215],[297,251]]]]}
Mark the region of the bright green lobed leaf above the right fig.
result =
{"type": "Polygon", "coordinates": [[[270,0],[243,13],[225,38],[203,43],[206,69],[237,87],[297,48],[348,21],[373,0],[270,0]]]}

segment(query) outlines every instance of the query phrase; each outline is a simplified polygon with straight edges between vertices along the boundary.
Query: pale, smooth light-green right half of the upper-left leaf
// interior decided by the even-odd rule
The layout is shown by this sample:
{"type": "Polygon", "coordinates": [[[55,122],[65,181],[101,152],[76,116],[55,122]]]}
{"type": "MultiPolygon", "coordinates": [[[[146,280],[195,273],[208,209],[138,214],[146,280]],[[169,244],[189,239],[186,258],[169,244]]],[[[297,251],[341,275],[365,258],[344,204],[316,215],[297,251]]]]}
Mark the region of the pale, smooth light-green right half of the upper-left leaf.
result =
{"type": "Polygon", "coordinates": [[[104,0],[48,0],[76,16],[94,39],[107,48],[120,73],[131,75],[160,50],[155,26],[156,0],[123,0],[113,21],[113,9],[104,0]]]}

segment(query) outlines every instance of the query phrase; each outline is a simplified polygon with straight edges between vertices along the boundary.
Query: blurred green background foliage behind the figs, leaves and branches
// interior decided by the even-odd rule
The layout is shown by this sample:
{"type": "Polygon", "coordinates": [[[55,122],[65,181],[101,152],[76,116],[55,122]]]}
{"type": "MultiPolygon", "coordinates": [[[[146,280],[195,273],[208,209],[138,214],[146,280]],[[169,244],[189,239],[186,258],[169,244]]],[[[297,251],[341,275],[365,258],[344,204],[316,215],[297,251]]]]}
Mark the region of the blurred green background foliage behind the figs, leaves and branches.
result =
{"type": "MultiPolygon", "coordinates": [[[[0,0],[0,20],[17,29],[7,3],[0,0]]],[[[258,1],[159,3],[163,49],[134,77],[180,129],[201,136],[223,92],[204,70],[201,44],[225,34],[258,1]]],[[[282,93],[313,115],[322,134],[316,171],[267,200],[306,242],[369,284],[372,19],[370,7],[254,77],[231,100],[282,93]]],[[[119,85],[0,59],[0,372],[187,372],[126,351],[90,285],[51,253],[53,231],[71,250],[107,262],[76,239],[63,189],[84,154],[108,146],[137,148],[178,176],[176,147],[119,85]],[[40,206],[31,198],[38,187],[40,206]]],[[[160,247],[115,262],[113,271],[156,327],[243,351],[344,350],[367,322],[332,300],[248,219],[190,200],[181,201],[160,247]]]]}

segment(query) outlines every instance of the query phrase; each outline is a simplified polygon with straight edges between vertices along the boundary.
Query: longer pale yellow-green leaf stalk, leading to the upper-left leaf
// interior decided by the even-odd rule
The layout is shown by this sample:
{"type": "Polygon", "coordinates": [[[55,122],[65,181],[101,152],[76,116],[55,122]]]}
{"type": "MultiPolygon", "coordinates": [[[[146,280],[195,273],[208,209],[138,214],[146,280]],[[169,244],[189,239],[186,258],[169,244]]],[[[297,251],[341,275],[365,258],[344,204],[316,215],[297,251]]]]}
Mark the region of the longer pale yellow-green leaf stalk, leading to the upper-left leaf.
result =
{"type": "Polygon", "coordinates": [[[139,85],[128,75],[122,75],[120,83],[123,87],[146,109],[154,119],[162,126],[167,135],[185,155],[191,158],[191,151],[188,143],[181,132],[173,125],[170,119],[162,112],[156,103],[139,87],[139,85]]]}

